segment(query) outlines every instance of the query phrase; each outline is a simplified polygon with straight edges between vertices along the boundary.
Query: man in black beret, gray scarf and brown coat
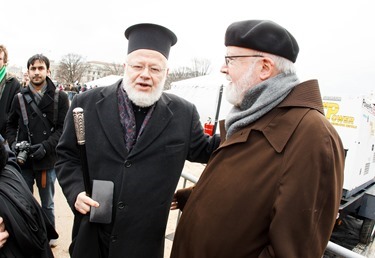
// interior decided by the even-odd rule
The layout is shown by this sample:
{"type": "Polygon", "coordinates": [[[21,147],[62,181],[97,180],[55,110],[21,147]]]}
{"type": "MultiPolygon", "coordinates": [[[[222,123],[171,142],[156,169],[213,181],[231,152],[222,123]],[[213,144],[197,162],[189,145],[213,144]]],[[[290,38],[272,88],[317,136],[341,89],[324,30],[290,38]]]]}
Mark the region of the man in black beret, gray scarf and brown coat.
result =
{"type": "Polygon", "coordinates": [[[198,183],[175,195],[172,208],[183,213],[171,257],[322,257],[344,149],[318,81],[299,81],[297,41],[272,21],[231,24],[225,45],[221,72],[233,108],[198,183]]]}

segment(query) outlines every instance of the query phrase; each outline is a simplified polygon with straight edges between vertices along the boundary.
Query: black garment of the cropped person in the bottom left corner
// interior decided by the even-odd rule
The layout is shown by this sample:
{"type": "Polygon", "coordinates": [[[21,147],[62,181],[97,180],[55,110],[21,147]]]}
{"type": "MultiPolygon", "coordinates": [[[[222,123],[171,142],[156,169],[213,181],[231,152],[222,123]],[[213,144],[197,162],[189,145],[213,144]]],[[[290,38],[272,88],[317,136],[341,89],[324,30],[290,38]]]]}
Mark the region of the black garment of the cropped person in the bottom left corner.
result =
{"type": "MultiPolygon", "coordinates": [[[[1,157],[4,146],[1,143],[1,157]]],[[[8,149],[9,153],[13,155],[8,149]]],[[[0,216],[9,232],[1,258],[51,258],[50,239],[58,234],[24,181],[14,157],[0,170],[0,216]]]]}

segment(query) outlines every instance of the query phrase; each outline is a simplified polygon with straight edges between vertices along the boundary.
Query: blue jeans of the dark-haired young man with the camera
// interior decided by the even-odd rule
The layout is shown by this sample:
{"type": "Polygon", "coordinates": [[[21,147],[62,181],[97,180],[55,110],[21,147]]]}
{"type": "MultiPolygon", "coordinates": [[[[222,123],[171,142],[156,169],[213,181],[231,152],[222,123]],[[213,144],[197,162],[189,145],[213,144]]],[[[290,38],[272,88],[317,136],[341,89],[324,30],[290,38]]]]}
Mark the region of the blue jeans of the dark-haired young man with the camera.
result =
{"type": "Polygon", "coordinates": [[[47,170],[46,174],[46,187],[42,187],[42,171],[34,171],[31,169],[22,169],[22,176],[26,181],[30,191],[33,192],[34,179],[39,190],[39,197],[42,203],[42,209],[47,215],[53,227],[55,227],[55,169],[47,170]]]}

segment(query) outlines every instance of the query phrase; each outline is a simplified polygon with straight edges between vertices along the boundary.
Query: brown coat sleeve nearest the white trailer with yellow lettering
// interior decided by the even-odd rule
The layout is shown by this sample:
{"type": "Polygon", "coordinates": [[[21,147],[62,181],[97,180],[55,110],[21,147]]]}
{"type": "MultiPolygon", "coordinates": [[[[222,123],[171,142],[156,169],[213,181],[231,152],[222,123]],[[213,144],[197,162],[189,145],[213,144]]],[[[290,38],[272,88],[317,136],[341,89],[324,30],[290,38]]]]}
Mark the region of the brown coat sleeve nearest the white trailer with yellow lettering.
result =
{"type": "Polygon", "coordinates": [[[335,129],[323,116],[312,116],[317,113],[303,118],[284,150],[270,244],[259,257],[320,257],[331,236],[345,155],[335,129]]]}

